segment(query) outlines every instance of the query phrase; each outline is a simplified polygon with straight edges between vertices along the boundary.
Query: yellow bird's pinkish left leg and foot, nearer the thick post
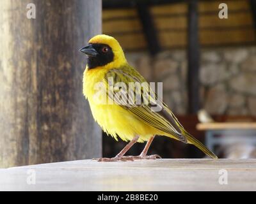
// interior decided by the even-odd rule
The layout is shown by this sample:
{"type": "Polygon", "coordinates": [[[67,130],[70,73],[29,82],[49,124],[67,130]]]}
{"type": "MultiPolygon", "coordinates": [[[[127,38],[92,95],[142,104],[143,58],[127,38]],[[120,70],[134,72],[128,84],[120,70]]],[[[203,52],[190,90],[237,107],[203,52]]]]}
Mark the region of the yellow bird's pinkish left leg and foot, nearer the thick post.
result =
{"type": "Polygon", "coordinates": [[[115,157],[112,157],[112,158],[99,158],[99,159],[96,159],[97,161],[133,161],[133,158],[132,157],[124,157],[124,154],[129,150],[131,149],[132,145],[134,145],[134,143],[136,143],[139,139],[139,136],[135,136],[131,142],[129,142],[125,147],[124,149],[122,149],[115,157]]]}

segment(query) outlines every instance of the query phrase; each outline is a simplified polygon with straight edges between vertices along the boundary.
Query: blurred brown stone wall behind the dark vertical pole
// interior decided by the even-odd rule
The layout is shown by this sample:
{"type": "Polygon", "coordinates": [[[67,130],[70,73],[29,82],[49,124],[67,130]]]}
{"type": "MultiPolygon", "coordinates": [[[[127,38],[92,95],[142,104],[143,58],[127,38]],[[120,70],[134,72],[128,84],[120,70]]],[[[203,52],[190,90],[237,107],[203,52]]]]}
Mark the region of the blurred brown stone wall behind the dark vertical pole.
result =
{"type": "MultiPolygon", "coordinates": [[[[156,57],[128,53],[127,60],[150,82],[163,82],[163,98],[173,112],[188,106],[186,50],[156,57]]],[[[200,103],[209,113],[256,115],[256,47],[201,50],[200,103]]]]}

